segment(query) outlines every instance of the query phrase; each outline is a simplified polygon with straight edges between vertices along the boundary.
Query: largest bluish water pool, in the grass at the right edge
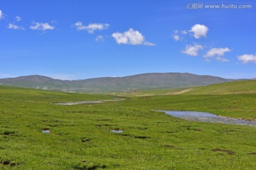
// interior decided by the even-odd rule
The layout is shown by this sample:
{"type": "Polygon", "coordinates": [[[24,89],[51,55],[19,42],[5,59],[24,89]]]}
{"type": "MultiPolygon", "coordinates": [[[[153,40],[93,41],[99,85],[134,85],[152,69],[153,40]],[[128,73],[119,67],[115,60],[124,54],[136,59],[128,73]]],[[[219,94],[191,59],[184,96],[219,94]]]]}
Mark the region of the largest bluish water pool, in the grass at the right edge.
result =
{"type": "Polygon", "coordinates": [[[161,111],[176,118],[209,123],[225,123],[233,125],[250,125],[256,127],[255,121],[242,120],[240,118],[229,118],[220,115],[213,115],[207,112],[196,111],[161,111]]]}

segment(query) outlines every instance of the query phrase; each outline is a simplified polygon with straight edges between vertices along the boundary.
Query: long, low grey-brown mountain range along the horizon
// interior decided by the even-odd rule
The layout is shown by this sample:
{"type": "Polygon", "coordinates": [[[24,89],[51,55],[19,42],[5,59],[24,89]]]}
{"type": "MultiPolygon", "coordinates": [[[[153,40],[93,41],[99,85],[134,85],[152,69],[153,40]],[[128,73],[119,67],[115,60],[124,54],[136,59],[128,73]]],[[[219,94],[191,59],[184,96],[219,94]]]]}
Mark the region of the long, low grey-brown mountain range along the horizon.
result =
{"type": "Polygon", "coordinates": [[[5,86],[18,86],[53,91],[132,91],[141,89],[175,89],[219,84],[235,79],[223,79],[189,73],[148,73],[128,77],[102,77],[82,80],[60,80],[39,75],[0,79],[5,86]]]}

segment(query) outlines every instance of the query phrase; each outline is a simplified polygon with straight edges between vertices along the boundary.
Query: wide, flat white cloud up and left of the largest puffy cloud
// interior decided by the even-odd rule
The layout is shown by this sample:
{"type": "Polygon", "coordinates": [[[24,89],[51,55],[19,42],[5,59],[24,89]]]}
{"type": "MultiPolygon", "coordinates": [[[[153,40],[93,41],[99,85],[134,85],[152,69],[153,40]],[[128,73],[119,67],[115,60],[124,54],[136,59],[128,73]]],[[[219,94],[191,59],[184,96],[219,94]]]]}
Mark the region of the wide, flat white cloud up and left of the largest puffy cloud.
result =
{"type": "Polygon", "coordinates": [[[90,23],[88,26],[84,26],[81,22],[75,23],[77,30],[87,30],[88,33],[94,33],[95,30],[107,30],[110,27],[108,23],[90,23]]]}

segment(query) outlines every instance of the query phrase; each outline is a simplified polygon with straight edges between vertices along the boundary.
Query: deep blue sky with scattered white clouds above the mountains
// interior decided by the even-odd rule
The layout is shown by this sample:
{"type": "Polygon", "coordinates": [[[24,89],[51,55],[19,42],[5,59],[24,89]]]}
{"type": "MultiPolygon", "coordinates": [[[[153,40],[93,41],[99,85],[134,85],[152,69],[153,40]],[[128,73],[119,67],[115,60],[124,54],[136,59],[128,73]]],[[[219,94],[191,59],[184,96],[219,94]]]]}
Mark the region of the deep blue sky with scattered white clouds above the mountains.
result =
{"type": "Polygon", "coordinates": [[[255,23],[255,0],[1,0],[0,78],[253,78],[255,23]]]}

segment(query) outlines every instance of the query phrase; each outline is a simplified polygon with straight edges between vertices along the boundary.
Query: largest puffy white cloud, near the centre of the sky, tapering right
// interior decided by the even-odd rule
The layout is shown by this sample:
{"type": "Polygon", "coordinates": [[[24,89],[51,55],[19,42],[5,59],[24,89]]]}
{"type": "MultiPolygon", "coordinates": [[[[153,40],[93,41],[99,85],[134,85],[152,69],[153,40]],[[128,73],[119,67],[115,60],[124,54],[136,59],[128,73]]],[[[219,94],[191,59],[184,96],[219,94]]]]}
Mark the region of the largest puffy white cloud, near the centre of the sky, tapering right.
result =
{"type": "Polygon", "coordinates": [[[128,45],[155,45],[154,43],[147,42],[138,30],[130,28],[124,33],[113,33],[112,37],[116,40],[117,44],[128,44],[128,45]]]}

